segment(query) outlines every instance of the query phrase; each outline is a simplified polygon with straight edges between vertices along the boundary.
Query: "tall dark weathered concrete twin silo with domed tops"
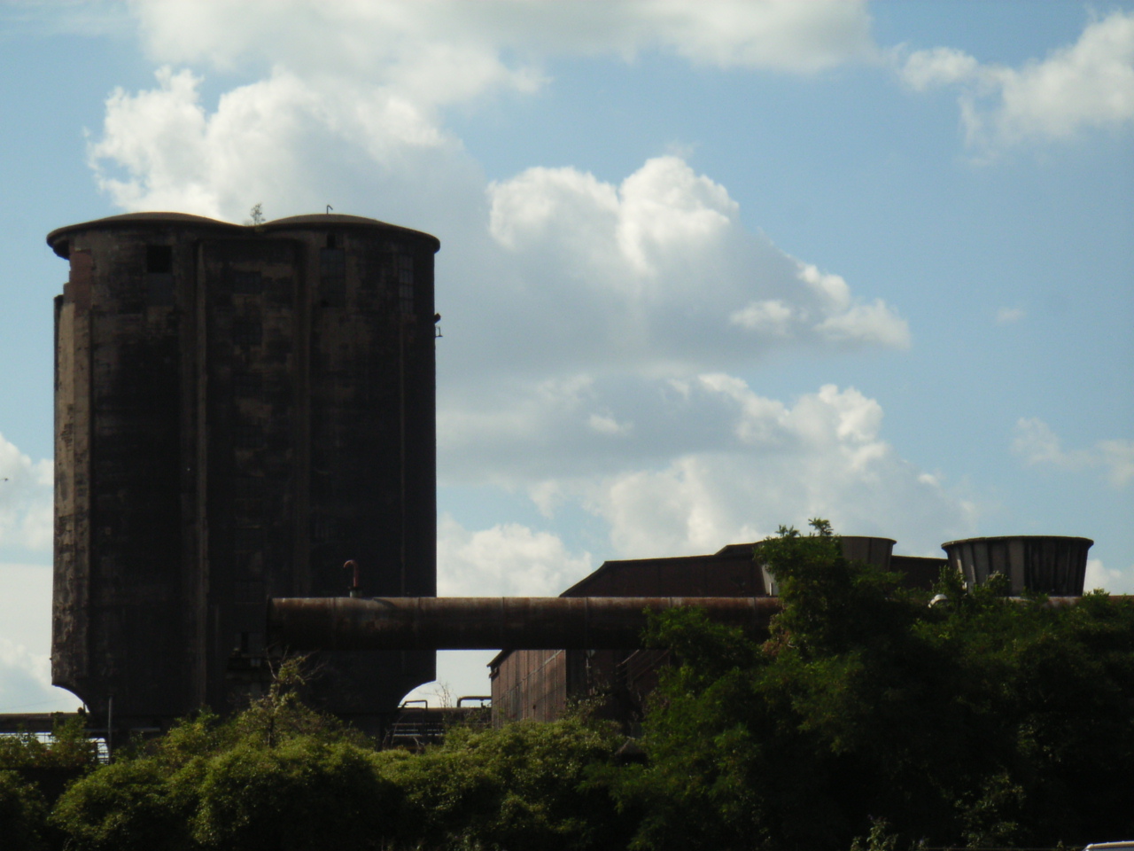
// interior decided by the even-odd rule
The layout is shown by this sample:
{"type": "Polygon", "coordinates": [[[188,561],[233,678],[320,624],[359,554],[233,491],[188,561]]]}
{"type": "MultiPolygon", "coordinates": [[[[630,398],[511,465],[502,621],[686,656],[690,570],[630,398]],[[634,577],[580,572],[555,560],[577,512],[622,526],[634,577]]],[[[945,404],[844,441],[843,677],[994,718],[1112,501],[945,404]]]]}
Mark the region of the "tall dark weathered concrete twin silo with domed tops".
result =
{"type": "MultiPolygon", "coordinates": [[[[435,593],[429,234],[354,216],[132,213],[52,231],[52,680],[122,728],[262,686],[271,597],[435,593]]],[[[344,651],[362,724],[431,651],[344,651]]]]}

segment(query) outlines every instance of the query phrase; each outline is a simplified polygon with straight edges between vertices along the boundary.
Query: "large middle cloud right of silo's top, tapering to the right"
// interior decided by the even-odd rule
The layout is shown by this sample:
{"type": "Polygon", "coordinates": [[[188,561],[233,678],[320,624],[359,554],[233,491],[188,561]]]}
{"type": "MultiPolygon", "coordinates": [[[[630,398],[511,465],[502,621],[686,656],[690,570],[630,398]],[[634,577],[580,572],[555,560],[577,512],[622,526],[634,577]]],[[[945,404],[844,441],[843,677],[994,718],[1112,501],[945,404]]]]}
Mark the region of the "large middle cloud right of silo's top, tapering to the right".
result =
{"type": "Polygon", "coordinates": [[[510,267],[493,312],[515,313],[519,329],[555,320],[528,359],[617,354],[624,365],[696,369],[786,344],[909,345],[892,307],[746,230],[727,189],[679,157],[650,159],[617,186],[531,168],[488,194],[489,229],[510,267]]]}

